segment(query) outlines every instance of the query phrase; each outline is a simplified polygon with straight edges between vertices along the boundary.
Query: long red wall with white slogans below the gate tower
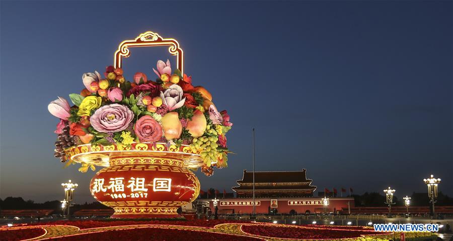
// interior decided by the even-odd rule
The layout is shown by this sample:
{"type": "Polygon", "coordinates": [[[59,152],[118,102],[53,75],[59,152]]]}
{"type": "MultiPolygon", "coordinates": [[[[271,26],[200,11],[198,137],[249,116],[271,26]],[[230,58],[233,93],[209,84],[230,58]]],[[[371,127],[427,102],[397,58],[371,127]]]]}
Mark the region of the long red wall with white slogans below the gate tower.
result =
{"type": "MultiPolygon", "coordinates": [[[[210,201],[211,210],[214,210],[213,202],[208,199],[201,199],[203,201],[210,201]]],[[[305,213],[309,210],[311,213],[323,213],[323,212],[334,212],[341,211],[342,208],[347,210],[348,202],[350,207],[355,207],[354,198],[329,198],[329,205],[325,208],[322,202],[322,198],[277,198],[278,213],[289,213],[291,209],[294,209],[297,213],[305,213]],[[315,204],[310,205],[288,205],[288,201],[300,201],[300,202],[311,202],[315,204]]],[[[259,205],[256,205],[256,213],[268,213],[268,207],[270,206],[270,198],[256,198],[256,202],[260,202],[259,205]]],[[[225,198],[219,199],[217,203],[219,213],[230,213],[228,210],[234,209],[234,213],[252,213],[253,205],[251,198],[225,198]],[[250,204],[246,205],[224,205],[222,202],[249,202],[250,204]],[[221,211],[224,210],[224,211],[221,211]]]]}

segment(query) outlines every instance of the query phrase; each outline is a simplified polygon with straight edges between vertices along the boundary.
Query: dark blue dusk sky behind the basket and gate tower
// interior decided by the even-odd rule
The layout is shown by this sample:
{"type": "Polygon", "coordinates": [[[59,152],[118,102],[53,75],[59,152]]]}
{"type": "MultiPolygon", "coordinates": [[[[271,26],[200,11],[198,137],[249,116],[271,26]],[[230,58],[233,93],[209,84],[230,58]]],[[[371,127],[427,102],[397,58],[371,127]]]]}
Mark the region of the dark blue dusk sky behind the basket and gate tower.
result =
{"type": "MultiPolygon", "coordinates": [[[[0,198],[93,202],[94,172],[53,157],[57,96],[104,72],[118,44],[145,31],[179,41],[185,72],[228,110],[229,168],[198,176],[232,192],[243,169],[307,169],[317,191],[396,196],[442,179],[453,195],[451,1],[1,1],[0,198]]],[[[126,79],[153,76],[167,48],[131,49],[126,79]]],[[[97,171],[99,168],[97,169],[97,171]]],[[[316,191],[316,192],[317,192],[316,191]]]]}

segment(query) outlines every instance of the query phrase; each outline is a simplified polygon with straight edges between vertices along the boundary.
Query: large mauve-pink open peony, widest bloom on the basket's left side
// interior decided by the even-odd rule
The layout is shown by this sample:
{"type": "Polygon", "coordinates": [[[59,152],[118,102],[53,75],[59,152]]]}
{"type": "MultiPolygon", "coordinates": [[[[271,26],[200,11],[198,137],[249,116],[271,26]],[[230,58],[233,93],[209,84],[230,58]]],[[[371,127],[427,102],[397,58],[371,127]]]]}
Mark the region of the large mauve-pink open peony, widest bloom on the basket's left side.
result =
{"type": "Polygon", "coordinates": [[[118,132],[125,130],[134,118],[134,113],[126,106],[111,104],[96,110],[90,121],[99,132],[118,132]]]}

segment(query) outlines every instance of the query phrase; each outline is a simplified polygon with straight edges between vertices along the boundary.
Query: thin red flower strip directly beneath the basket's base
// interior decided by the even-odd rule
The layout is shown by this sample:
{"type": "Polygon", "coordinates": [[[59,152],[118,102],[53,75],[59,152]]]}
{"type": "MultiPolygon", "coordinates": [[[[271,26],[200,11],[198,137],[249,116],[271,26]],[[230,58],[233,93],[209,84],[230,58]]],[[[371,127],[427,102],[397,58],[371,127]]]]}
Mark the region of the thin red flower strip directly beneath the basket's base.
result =
{"type": "Polygon", "coordinates": [[[208,220],[205,219],[194,219],[194,220],[174,220],[174,221],[159,221],[159,220],[142,220],[142,221],[131,221],[131,220],[112,220],[112,221],[98,221],[98,220],[86,220],[86,221],[55,221],[55,222],[40,222],[32,225],[72,225],[79,227],[80,229],[93,228],[93,227],[109,227],[109,226],[123,226],[123,225],[139,225],[139,224],[164,224],[164,225],[182,225],[182,226],[198,226],[198,227],[214,227],[221,223],[248,223],[245,221],[235,220],[208,220]]]}

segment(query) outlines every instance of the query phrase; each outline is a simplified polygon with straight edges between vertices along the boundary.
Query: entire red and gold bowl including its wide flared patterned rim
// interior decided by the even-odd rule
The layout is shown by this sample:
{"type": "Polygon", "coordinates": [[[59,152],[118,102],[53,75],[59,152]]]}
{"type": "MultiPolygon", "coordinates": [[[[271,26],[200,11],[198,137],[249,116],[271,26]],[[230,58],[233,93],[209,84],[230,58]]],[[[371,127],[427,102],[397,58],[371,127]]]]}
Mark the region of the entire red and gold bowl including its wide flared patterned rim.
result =
{"type": "Polygon", "coordinates": [[[177,209],[200,192],[200,182],[189,168],[200,167],[202,160],[186,145],[87,144],[66,154],[73,162],[106,167],[91,180],[90,190],[96,200],[115,210],[114,218],[176,217],[177,209]]]}

